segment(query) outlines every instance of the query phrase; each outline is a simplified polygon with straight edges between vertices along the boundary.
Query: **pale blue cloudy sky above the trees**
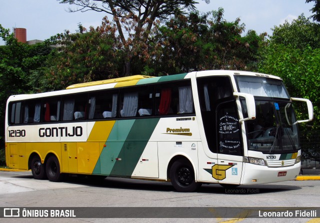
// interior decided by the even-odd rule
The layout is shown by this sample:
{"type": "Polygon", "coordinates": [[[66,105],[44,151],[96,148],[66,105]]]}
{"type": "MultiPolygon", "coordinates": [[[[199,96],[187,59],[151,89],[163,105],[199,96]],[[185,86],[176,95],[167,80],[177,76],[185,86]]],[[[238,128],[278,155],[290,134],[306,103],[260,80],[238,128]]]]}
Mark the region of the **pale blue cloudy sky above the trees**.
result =
{"type": "MultiPolygon", "coordinates": [[[[313,2],[305,3],[305,0],[210,0],[209,4],[196,1],[200,12],[222,7],[225,20],[234,21],[239,17],[240,23],[245,24],[244,33],[252,29],[258,34],[272,34],[271,28],[275,25],[283,24],[286,19],[291,21],[302,13],[309,17],[313,6],[313,2]]],[[[13,27],[26,28],[27,40],[44,40],[64,30],[74,33],[79,23],[86,28],[96,27],[106,15],[95,11],[70,13],[68,7],[57,0],[2,0],[0,24],[10,30],[13,27]]],[[[0,39],[0,45],[3,44],[0,39]]]]}

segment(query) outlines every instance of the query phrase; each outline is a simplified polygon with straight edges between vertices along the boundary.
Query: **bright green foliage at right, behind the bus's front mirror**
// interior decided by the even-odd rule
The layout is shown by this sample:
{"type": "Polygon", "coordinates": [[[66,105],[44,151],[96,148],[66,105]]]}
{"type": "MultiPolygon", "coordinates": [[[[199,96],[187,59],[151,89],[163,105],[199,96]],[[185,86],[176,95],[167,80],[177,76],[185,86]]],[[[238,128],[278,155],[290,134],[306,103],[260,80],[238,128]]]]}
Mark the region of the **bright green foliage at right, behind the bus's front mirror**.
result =
{"type": "MultiPolygon", "coordinates": [[[[259,49],[258,70],[281,77],[292,97],[311,100],[314,110],[312,128],[319,129],[320,46],[317,39],[320,36],[314,31],[319,30],[319,25],[310,23],[301,15],[291,24],[286,22],[274,30],[259,49]]],[[[295,106],[298,119],[306,119],[305,104],[295,106]]]]}

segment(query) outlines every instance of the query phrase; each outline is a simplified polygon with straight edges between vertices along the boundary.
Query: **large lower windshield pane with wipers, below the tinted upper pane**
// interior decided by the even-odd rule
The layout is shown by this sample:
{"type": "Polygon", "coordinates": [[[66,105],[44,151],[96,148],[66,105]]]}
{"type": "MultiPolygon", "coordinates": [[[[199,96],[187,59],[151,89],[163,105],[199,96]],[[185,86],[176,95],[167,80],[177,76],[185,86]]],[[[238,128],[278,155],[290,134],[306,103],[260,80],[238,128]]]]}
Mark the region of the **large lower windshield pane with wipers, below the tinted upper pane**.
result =
{"type": "Polygon", "coordinates": [[[256,100],[256,119],[246,122],[248,149],[293,153],[299,149],[297,123],[290,102],[256,100]]]}

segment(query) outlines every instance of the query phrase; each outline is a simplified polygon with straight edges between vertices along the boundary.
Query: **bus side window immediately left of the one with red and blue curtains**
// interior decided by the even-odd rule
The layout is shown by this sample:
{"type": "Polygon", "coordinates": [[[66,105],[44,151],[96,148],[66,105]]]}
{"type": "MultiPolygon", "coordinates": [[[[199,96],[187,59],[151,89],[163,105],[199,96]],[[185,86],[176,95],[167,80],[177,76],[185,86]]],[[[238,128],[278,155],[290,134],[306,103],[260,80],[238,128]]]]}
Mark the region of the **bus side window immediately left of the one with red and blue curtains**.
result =
{"type": "Polygon", "coordinates": [[[153,87],[134,87],[120,91],[119,117],[152,115],[153,87]]]}

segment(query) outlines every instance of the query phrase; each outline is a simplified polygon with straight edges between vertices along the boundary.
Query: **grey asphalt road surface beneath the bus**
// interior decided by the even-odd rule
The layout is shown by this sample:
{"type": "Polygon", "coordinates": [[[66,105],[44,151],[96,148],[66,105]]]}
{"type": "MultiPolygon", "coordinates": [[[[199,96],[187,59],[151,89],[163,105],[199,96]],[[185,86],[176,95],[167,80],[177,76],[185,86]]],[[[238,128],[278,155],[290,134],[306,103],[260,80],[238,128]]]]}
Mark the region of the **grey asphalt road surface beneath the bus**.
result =
{"type": "MultiPolygon", "coordinates": [[[[75,223],[75,222],[173,222],[173,223],[319,223],[314,218],[245,218],[214,217],[166,218],[168,209],[161,207],[320,207],[320,181],[286,181],[281,183],[240,186],[224,189],[220,185],[203,185],[195,193],[175,192],[170,183],[106,178],[91,182],[88,179],[69,177],[64,182],[34,180],[30,172],[0,171],[0,207],[159,207],[161,218],[69,218],[69,219],[1,219],[5,223],[75,223]],[[164,219],[163,219],[164,218],[164,219]]],[[[124,210],[124,209],[123,209],[124,210]]],[[[146,209],[149,210],[149,209],[146,209]]],[[[173,212],[175,209],[172,209],[173,212]]],[[[196,211],[190,209],[190,212],[196,211]]],[[[228,209],[226,209],[228,211],[228,209]]],[[[120,215],[120,214],[119,214],[120,215]]],[[[320,216],[318,211],[317,216],[320,216]]],[[[120,216],[119,216],[120,217],[120,216]]],[[[123,217],[123,216],[122,216],[123,217]]]]}

